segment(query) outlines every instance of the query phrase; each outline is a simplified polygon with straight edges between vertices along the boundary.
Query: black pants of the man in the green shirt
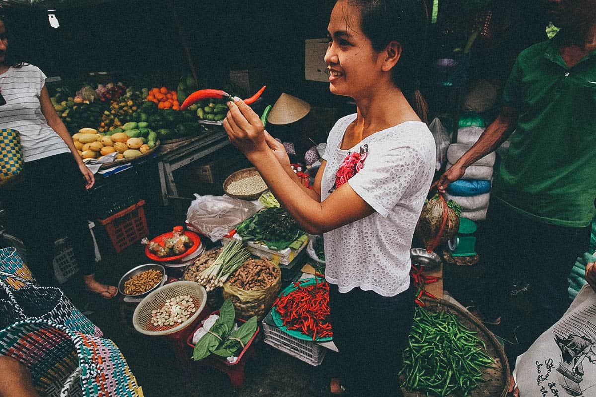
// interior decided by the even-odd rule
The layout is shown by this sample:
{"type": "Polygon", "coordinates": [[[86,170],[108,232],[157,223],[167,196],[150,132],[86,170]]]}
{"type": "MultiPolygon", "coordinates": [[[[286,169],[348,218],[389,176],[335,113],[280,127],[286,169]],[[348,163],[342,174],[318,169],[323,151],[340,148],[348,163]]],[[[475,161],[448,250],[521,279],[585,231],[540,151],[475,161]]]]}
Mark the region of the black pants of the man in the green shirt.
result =
{"type": "Polygon", "coordinates": [[[590,226],[562,227],[516,214],[491,200],[486,233],[479,241],[480,260],[488,268],[483,314],[508,310],[513,279],[529,283],[530,318],[513,319],[520,350],[557,321],[570,304],[567,276],[575,259],[588,249],[590,226]]]}

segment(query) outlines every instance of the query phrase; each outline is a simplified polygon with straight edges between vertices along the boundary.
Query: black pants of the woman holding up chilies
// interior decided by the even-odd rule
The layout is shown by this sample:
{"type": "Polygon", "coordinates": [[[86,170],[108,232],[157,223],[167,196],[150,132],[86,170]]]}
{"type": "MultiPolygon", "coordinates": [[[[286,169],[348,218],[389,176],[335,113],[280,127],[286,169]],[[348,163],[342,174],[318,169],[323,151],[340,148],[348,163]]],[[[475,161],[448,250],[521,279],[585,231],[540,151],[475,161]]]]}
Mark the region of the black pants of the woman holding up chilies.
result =
{"type": "Polygon", "coordinates": [[[342,384],[353,396],[401,396],[398,373],[414,319],[414,286],[386,298],[359,288],[329,286],[333,342],[342,384]]]}

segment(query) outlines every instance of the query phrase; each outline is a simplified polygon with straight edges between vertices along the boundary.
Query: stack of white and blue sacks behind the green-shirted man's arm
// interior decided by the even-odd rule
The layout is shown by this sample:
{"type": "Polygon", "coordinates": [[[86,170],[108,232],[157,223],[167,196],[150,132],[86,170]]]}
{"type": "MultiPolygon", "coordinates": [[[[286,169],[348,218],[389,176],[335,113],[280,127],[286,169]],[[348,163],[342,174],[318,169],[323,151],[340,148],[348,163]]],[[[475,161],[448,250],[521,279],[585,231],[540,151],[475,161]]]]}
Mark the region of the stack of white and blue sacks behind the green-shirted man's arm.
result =
{"type": "MultiPolygon", "coordinates": [[[[449,145],[447,150],[446,169],[460,160],[462,155],[476,143],[485,130],[482,116],[468,112],[460,117],[457,132],[457,143],[449,145]]],[[[453,200],[461,205],[462,217],[473,221],[486,219],[486,211],[490,199],[493,165],[496,155],[494,152],[474,162],[465,170],[462,179],[452,182],[445,193],[446,200],[453,200]]]]}

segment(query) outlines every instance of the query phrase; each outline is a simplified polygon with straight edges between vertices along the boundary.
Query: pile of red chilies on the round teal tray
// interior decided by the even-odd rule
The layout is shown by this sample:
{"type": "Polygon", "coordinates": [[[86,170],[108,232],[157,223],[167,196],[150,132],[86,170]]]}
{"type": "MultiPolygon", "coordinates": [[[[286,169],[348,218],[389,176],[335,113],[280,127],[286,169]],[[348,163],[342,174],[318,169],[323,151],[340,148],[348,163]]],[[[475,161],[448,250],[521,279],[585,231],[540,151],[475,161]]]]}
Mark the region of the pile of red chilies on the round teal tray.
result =
{"type": "Polygon", "coordinates": [[[329,285],[316,280],[316,284],[308,286],[302,286],[302,282],[294,283],[296,289],[278,296],[273,302],[287,329],[299,330],[313,341],[333,335],[328,320],[329,285]]]}

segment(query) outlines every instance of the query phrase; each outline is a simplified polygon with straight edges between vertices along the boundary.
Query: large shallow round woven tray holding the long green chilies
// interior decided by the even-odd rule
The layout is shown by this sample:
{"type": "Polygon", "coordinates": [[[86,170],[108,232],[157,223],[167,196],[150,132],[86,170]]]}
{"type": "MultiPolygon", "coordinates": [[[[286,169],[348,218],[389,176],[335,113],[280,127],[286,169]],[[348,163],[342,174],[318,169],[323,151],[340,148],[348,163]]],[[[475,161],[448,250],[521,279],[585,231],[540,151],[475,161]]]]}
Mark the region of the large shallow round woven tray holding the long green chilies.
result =
{"type": "MultiPolygon", "coordinates": [[[[509,364],[505,357],[505,352],[495,336],[470,312],[444,301],[443,299],[424,298],[426,310],[431,312],[448,312],[457,315],[461,324],[471,330],[477,331],[477,337],[486,345],[486,354],[495,359],[496,368],[484,368],[482,377],[488,379],[486,382],[480,382],[476,389],[472,390],[469,397],[505,397],[507,395],[507,386],[509,382],[509,364]]],[[[404,397],[426,397],[426,392],[409,392],[403,390],[404,397]]],[[[433,393],[429,396],[436,397],[433,393]]],[[[454,396],[449,394],[448,396],[454,396]]]]}

